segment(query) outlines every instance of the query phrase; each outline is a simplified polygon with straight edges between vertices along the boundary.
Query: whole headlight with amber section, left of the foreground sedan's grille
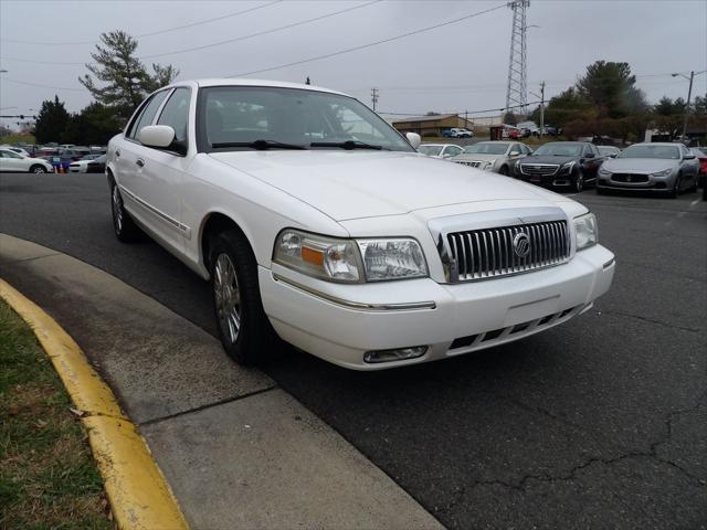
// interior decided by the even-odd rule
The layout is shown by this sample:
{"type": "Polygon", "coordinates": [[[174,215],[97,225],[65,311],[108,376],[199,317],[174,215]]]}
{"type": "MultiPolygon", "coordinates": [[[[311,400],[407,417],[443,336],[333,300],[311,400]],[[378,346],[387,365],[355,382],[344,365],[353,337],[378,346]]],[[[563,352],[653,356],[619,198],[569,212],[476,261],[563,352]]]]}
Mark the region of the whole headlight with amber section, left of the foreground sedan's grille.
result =
{"type": "Polygon", "coordinates": [[[420,244],[412,239],[344,240],[285,230],[273,261],[329,282],[362,283],[428,276],[420,244]]]}

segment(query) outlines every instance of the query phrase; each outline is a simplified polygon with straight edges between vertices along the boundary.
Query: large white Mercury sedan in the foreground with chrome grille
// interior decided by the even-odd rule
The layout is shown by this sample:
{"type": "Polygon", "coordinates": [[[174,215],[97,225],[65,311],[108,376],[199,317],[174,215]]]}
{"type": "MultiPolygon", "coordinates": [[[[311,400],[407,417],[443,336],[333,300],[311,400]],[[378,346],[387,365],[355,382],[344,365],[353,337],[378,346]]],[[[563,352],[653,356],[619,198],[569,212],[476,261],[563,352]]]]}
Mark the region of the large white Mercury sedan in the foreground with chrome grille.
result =
{"type": "Polygon", "coordinates": [[[279,338],[358,370],[445,359],[549,329],[609,289],[614,256],[585,206],[419,142],[325,88],[177,83],[108,145],[115,233],[139,226],[210,280],[244,363],[279,338]]]}

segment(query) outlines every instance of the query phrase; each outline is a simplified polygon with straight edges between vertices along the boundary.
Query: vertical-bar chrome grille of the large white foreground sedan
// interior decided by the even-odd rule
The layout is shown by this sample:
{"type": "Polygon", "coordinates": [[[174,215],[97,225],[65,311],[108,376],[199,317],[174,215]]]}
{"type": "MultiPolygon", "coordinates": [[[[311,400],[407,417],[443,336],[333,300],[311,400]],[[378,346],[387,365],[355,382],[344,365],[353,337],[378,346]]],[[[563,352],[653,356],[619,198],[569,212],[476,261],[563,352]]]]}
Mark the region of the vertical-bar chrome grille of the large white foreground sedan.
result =
{"type": "Polygon", "coordinates": [[[460,282],[536,271],[563,263],[570,255],[566,221],[453,232],[446,240],[460,282]],[[519,233],[525,233],[530,243],[525,257],[514,250],[519,233]]]}

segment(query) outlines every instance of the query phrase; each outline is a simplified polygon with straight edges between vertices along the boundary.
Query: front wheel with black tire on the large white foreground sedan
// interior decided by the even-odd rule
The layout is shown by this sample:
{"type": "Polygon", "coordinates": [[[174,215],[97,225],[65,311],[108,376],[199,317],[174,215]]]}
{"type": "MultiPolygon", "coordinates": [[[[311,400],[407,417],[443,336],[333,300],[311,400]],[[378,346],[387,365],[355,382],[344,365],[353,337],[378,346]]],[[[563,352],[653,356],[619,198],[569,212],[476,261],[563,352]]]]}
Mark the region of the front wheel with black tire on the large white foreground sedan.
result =
{"type": "Polygon", "coordinates": [[[211,240],[209,273],[219,338],[229,357],[251,365],[278,352],[283,342],[263,310],[255,256],[238,230],[211,240]]]}

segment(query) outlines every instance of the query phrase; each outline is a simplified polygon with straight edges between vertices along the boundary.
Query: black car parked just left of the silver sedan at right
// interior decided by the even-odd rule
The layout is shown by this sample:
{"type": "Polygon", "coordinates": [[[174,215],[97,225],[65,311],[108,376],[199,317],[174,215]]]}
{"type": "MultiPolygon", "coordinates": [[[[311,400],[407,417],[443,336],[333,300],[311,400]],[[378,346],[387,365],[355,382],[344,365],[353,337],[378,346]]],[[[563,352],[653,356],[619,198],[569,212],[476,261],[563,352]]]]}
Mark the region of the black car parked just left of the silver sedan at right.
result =
{"type": "Polygon", "coordinates": [[[538,186],[572,188],[580,192],[597,182],[605,160],[588,141],[552,141],[540,146],[515,166],[514,176],[538,186]]]}

